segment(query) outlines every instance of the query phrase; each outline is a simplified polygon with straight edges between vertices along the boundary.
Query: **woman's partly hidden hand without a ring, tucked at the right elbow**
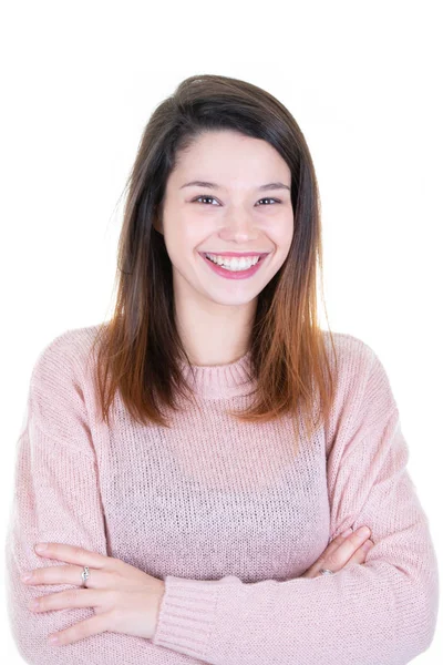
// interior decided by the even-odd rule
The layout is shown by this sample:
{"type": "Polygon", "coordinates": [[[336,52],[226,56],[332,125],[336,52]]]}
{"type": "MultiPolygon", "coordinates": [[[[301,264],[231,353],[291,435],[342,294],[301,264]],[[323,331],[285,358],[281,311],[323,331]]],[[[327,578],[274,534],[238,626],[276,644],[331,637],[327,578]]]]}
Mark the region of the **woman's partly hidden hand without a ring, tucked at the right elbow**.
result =
{"type": "Polygon", "coordinates": [[[340,534],[329,543],[318,560],[302,574],[301,577],[319,577],[320,570],[326,569],[337,573],[349,563],[364,563],[373,542],[370,531],[359,533],[359,529],[349,535],[340,534]]]}

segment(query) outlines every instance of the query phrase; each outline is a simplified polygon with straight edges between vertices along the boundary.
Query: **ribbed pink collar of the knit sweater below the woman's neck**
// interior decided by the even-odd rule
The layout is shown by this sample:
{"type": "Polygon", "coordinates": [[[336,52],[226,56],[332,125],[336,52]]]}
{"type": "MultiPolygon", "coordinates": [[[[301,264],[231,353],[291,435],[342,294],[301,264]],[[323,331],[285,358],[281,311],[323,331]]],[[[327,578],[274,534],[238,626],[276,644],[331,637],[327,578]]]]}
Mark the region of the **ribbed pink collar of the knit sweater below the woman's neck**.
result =
{"type": "Polygon", "coordinates": [[[226,399],[247,395],[253,386],[249,378],[250,349],[228,365],[193,365],[179,361],[182,374],[194,392],[204,399],[226,399]]]}

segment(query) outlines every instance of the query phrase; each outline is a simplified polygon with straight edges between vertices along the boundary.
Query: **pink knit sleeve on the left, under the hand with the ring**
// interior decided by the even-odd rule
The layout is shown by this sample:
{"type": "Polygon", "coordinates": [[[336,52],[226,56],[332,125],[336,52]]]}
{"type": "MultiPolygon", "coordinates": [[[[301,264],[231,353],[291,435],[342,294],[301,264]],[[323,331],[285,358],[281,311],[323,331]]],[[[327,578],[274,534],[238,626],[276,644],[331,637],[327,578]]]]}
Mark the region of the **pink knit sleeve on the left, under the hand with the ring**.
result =
{"type": "Polygon", "coordinates": [[[93,616],[94,610],[34,613],[28,608],[33,597],[78,589],[71,584],[30,586],[21,582],[24,571],[63,565],[39,556],[35,543],[60,542],[109,555],[95,452],[69,338],[63,334],[51,342],[33,368],[17,446],[4,551],[13,640],[23,661],[32,665],[198,663],[155,646],[151,640],[112,632],[62,646],[50,645],[50,634],[93,616]]]}

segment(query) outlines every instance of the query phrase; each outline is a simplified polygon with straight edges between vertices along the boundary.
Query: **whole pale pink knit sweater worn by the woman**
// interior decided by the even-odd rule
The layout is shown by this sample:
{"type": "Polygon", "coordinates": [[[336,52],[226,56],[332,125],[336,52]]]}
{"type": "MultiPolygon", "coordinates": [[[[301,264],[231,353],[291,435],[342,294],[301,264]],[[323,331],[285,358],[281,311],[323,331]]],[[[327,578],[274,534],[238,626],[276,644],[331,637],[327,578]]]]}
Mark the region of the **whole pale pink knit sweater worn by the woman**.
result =
{"type": "Polygon", "coordinates": [[[296,456],[289,418],[249,424],[225,413],[250,399],[249,352],[196,367],[199,409],[167,412],[172,429],[135,424],[119,393],[107,428],[86,361],[95,331],[58,336],[32,371],[6,542],[9,620],[25,663],[401,665],[430,646],[435,551],[389,379],[367,344],[333,334],[333,418],[296,456]],[[300,576],[330,540],[362,524],[375,543],[364,564],[300,576]],[[49,645],[50,633],[94,611],[28,610],[32,596],[72,589],[20,581],[60,565],[34,553],[40,541],[163,579],[154,637],[110,632],[49,645]]]}

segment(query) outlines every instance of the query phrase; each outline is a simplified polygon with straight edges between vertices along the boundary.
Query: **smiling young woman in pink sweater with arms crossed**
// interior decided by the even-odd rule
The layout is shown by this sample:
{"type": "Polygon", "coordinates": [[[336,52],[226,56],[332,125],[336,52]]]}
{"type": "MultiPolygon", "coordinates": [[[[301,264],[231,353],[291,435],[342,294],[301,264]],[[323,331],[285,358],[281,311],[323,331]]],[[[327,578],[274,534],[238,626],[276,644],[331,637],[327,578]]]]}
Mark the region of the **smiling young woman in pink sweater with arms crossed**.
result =
{"type": "Polygon", "coordinates": [[[396,403],[363,340],[319,328],[317,263],[292,115],[183,81],[128,180],[112,318],[33,368],[7,542],[27,663],[398,665],[431,644],[396,403]]]}

